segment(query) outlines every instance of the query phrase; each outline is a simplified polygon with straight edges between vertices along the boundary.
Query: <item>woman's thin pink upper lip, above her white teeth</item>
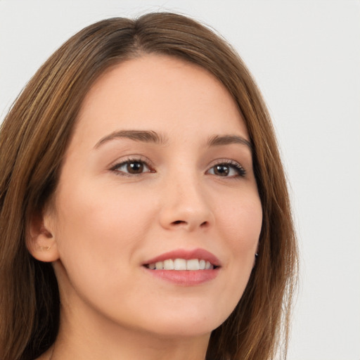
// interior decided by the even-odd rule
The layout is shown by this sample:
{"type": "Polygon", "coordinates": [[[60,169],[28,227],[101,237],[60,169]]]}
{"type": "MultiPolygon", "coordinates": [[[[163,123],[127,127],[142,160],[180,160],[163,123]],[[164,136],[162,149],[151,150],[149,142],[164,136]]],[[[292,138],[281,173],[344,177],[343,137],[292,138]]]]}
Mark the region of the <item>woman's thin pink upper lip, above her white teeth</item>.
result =
{"type": "Polygon", "coordinates": [[[210,262],[214,266],[221,266],[220,260],[214,254],[200,248],[193,250],[177,249],[169,252],[164,252],[157,257],[153,257],[152,259],[147,260],[143,263],[143,265],[154,264],[155,262],[163,262],[167,259],[203,259],[210,262]]]}

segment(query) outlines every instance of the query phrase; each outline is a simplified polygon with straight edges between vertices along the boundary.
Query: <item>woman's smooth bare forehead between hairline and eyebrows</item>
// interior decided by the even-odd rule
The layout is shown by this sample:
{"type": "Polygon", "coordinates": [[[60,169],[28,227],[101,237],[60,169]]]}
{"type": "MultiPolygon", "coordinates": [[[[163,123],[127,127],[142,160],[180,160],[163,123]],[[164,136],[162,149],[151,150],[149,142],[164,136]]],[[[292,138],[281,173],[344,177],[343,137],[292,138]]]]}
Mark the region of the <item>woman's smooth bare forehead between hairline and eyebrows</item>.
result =
{"type": "Polygon", "coordinates": [[[238,131],[248,138],[238,105],[214,75],[198,65],[158,55],[108,69],[84,98],[75,132],[100,138],[120,128],[179,135],[238,131]]]}

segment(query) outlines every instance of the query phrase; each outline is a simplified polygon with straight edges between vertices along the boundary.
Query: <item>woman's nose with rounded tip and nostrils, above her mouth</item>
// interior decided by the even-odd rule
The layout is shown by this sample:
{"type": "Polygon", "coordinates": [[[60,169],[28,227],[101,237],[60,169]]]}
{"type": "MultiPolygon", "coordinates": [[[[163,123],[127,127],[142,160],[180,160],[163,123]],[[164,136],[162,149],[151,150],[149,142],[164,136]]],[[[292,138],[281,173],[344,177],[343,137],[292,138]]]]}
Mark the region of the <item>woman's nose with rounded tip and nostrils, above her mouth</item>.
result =
{"type": "Polygon", "coordinates": [[[165,229],[195,231],[213,222],[213,212],[204,186],[198,179],[169,179],[162,190],[160,224],[165,229]]]}

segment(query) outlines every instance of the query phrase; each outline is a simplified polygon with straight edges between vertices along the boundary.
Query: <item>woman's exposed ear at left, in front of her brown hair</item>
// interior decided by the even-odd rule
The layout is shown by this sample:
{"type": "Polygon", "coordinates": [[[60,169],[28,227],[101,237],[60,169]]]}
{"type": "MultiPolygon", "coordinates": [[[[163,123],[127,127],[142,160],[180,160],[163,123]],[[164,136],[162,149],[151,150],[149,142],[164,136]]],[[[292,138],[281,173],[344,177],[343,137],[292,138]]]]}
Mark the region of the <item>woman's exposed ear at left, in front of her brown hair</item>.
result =
{"type": "Polygon", "coordinates": [[[54,222],[53,211],[46,209],[33,214],[27,227],[27,250],[41,262],[55,262],[59,258],[54,222]]]}

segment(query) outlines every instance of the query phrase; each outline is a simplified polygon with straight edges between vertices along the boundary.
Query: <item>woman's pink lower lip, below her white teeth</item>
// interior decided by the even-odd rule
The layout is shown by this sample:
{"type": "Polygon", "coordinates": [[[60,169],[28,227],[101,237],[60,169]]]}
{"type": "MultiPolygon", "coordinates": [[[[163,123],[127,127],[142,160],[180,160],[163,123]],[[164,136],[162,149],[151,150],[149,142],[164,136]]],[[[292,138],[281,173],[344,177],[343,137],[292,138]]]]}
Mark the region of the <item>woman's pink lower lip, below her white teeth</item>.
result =
{"type": "Polygon", "coordinates": [[[193,286],[212,281],[219,274],[219,268],[209,270],[150,270],[151,275],[176,285],[193,286]]]}

